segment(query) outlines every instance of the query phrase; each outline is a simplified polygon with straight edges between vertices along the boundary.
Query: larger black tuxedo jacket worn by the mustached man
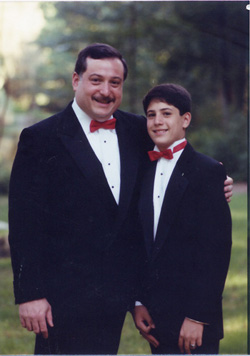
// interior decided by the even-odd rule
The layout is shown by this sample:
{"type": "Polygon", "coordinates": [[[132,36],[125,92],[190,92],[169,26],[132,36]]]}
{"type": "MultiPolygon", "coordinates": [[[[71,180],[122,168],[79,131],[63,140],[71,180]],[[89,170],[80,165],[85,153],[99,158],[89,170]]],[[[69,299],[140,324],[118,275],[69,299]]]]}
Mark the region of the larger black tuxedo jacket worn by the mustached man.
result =
{"type": "Polygon", "coordinates": [[[145,118],[117,111],[119,206],[71,104],[25,129],[10,180],[16,303],[47,298],[54,314],[124,311],[142,248],[137,223],[145,118]]]}

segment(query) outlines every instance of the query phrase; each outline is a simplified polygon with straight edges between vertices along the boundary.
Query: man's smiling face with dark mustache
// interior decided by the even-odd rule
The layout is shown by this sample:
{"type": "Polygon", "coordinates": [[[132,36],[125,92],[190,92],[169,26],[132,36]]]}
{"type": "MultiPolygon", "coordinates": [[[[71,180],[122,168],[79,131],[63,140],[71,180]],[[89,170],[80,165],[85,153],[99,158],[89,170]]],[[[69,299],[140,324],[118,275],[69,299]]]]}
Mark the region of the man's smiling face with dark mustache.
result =
{"type": "Polygon", "coordinates": [[[122,101],[123,75],[119,58],[87,58],[86,71],[72,77],[77,104],[94,120],[109,119],[122,101]]]}

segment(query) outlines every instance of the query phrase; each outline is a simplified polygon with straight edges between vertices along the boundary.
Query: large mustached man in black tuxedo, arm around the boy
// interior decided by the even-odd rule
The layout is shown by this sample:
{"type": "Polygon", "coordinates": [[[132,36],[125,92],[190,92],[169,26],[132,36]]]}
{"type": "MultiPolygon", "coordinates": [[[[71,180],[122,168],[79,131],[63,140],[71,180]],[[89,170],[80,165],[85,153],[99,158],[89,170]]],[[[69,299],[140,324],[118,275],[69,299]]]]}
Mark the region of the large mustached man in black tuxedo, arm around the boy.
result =
{"type": "Polygon", "coordinates": [[[36,354],[117,353],[134,302],[140,164],[151,142],[143,117],[117,110],[126,76],[116,49],[86,47],[73,103],[20,137],[9,241],[15,300],[22,326],[37,334],[36,354]]]}

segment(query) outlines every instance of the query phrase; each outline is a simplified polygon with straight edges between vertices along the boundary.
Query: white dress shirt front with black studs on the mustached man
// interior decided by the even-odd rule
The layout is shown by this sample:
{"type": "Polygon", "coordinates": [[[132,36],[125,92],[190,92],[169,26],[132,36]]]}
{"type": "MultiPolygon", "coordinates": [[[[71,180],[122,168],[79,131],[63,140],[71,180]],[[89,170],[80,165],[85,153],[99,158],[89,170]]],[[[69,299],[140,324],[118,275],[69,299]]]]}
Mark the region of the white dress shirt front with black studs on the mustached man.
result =
{"type": "MultiPolygon", "coordinates": [[[[120,151],[116,130],[98,129],[95,132],[90,132],[91,118],[79,107],[74,99],[72,108],[81,124],[81,127],[92,147],[94,153],[102,164],[104,174],[108,185],[119,204],[120,197],[120,151]]],[[[112,119],[113,116],[110,117],[112,119]]]]}

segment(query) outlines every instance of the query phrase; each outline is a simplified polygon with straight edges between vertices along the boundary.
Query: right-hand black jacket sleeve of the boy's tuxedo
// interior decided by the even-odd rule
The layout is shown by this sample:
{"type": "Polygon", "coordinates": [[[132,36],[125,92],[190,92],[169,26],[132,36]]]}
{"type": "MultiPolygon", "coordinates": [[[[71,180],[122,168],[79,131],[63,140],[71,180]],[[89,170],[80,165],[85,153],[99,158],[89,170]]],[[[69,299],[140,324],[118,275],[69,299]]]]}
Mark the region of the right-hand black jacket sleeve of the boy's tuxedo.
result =
{"type": "Polygon", "coordinates": [[[224,197],[225,170],[219,163],[202,173],[196,245],[189,266],[187,317],[208,324],[221,310],[231,254],[231,214],[224,197]]]}

